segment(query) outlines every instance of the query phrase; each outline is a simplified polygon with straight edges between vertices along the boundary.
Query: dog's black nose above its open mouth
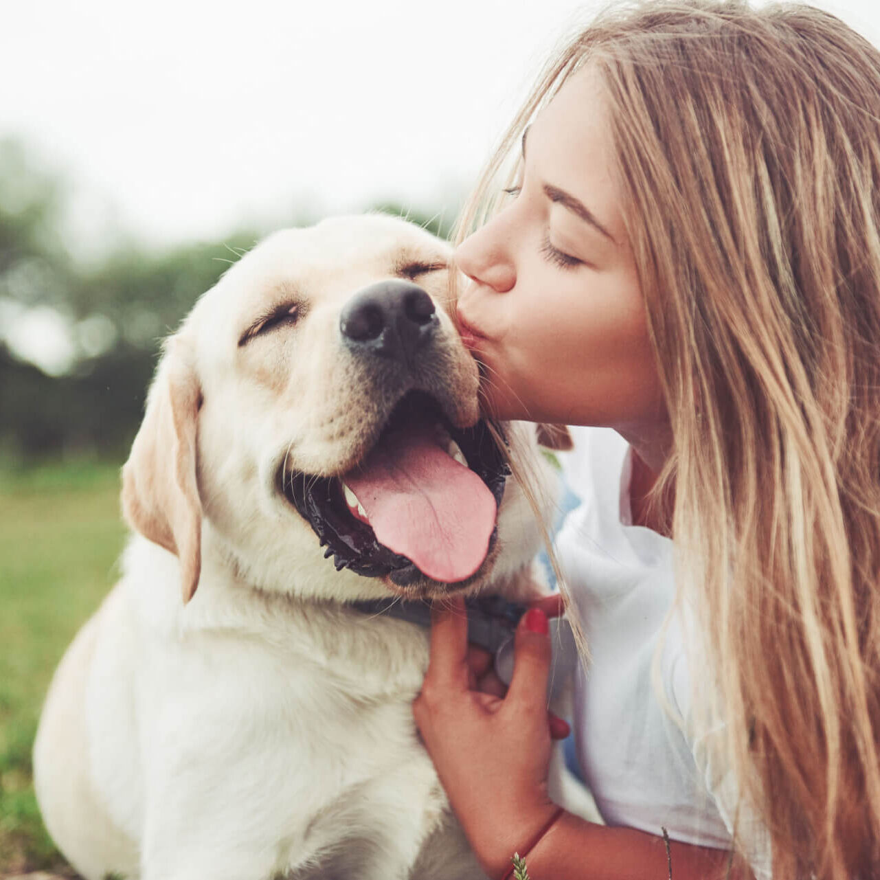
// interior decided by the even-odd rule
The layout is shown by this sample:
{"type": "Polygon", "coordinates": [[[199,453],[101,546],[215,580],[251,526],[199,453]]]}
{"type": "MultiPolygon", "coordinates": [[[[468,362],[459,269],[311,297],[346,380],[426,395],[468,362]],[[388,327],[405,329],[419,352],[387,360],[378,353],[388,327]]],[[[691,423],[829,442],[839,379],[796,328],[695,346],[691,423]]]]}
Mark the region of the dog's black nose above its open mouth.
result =
{"type": "Polygon", "coordinates": [[[348,300],[339,327],[349,348],[408,363],[439,323],[433,300],[418,284],[380,281],[348,300]]]}

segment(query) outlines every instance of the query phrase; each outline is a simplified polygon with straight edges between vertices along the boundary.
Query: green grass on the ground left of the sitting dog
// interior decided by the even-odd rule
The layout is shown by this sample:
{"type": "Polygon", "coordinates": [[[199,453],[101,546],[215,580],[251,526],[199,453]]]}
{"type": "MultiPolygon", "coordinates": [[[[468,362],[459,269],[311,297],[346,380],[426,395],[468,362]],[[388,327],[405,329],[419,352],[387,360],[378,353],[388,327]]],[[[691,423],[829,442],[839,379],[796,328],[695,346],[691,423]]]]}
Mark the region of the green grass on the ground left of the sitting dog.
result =
{"type": "Polygon", "coordinates": [[[0,466],[0,876],[65,871],[33,796],[31,749],[52,672],[114,583],[118,499],[115,464],[0,466]]]}

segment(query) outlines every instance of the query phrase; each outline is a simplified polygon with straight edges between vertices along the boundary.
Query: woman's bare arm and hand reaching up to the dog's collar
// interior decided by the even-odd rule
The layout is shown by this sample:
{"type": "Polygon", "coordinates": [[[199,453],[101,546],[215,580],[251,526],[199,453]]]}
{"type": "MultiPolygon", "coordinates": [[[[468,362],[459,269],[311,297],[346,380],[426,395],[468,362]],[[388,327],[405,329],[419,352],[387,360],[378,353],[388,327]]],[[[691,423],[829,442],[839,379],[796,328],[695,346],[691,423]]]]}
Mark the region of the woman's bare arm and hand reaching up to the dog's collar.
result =
{"type": "MultiPolygon", "coordinates": [[[[507,876],[511,856],[536,838],[526,859],[532,880],[666,880],[668,859],[672,880],[728,876],[730,854],[722,850],[671,842],[667,852],[662,837],[631,828],[566,812],[554,821],[558,808],[546,788],[552,740],[545,614],[527,612],[516,638],[507,696],[480,693],[472,689],[463,601],[436,608],[429,670],[413,704],[452,809],[488,876],[507,876]]],[[[731,873],[730,880],[744,878],[731,873]]]]}

